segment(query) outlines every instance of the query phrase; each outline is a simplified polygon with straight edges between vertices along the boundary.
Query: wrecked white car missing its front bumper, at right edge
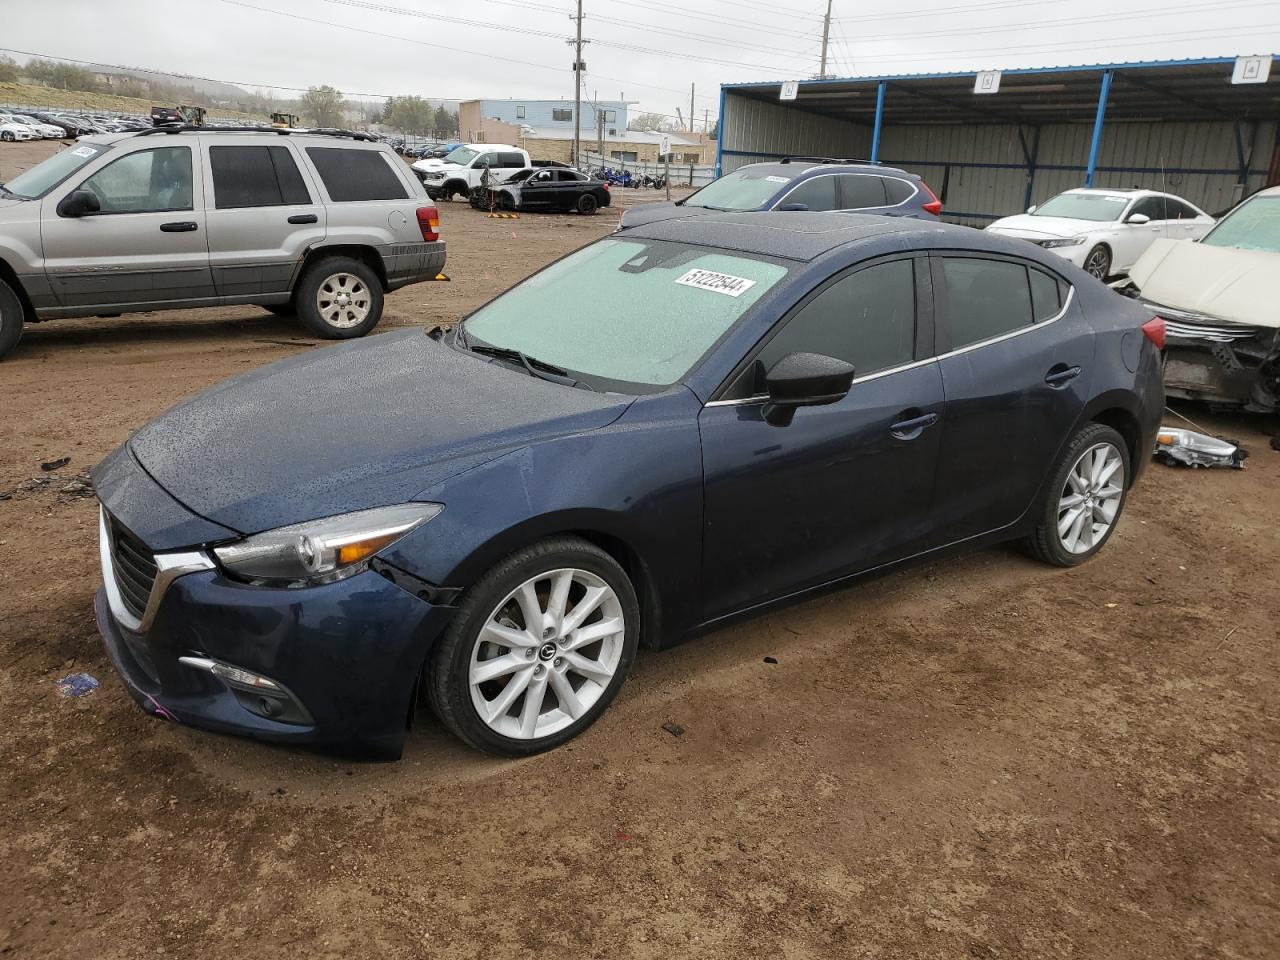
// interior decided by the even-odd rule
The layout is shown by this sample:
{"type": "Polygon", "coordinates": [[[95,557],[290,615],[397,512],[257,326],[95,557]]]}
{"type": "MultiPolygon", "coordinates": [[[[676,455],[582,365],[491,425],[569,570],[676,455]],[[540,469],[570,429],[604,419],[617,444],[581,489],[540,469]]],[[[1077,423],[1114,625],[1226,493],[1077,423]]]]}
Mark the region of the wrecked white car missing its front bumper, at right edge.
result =
{"type": "Polygon", "coordinates": [[[1199,242],[1157,239],[1115,288],[1165,320],[1167,396],[1280,408],[1280,187],[1199,242]]]}

